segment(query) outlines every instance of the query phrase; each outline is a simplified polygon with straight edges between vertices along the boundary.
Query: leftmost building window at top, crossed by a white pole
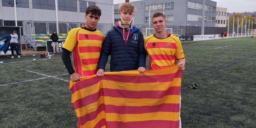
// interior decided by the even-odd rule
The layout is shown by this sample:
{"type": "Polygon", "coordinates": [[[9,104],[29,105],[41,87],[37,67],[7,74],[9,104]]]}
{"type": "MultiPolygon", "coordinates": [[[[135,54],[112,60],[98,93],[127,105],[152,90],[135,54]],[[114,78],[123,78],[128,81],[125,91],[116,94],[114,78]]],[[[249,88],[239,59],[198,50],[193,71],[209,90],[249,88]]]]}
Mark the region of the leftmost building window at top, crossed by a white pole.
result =
{"type": "MultiPolygon", "coordinates": [[[[2,0],[2,6],[14,7],[14,0],[2,0]]],[[[29,8],[28,0],[16,0],[16,7],[29,8]]]]}

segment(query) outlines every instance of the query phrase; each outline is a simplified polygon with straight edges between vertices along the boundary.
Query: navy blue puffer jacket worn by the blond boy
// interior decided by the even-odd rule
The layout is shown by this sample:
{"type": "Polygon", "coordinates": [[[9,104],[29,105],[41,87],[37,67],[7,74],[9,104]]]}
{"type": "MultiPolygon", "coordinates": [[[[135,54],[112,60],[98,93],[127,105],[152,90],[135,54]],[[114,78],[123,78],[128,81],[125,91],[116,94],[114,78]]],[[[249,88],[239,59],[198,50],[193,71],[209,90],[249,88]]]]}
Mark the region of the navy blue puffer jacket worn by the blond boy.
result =
{"type": "Polygon", "coordinates": [[[108,31],[101,46],[98,68],[105,70],[108,56],[111,55],[110,71],[137,70],[146,67],[146,50],[144,48],[143,35],[137,27],[132,29],[128,37],[127,45],[118,27],[108,31]]]}

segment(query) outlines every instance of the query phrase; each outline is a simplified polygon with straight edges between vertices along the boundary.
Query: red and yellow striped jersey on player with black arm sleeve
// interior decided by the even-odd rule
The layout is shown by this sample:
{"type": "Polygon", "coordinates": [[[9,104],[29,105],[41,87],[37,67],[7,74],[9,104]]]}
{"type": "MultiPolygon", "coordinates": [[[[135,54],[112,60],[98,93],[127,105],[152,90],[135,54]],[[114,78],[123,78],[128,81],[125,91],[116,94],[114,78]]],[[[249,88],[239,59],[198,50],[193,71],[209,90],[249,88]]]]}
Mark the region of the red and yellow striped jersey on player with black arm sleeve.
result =
{"type": "Polygon", "coordinates": [[[97,73],[103,40],[104,36],[100,31],[87,29],[84,25],[69,31],[62,47],[72,52],[77,74],[91,76],[97,73]]]}

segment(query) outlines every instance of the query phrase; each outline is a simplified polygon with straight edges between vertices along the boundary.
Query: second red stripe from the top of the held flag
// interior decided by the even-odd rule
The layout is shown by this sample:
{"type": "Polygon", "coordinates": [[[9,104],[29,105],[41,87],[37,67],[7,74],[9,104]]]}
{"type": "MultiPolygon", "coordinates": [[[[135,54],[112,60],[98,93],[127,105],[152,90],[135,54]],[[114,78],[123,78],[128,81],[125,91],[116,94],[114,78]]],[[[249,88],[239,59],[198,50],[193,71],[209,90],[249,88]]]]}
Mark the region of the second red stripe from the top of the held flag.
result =
{"type": "Polygon", "coordinates": [[[75,109],[82,108],[99,100],[100,96],[109,96],[116,98],[131,98],[131,99],[160,99],[167,95],[180,95],[180,86],[169,87],[165,91],[127,91],[109,88],[100,88],[99,92],[78,99],[73,103],[75,109]],[[86,102],[84,102],[86,101],[86,102]]]}

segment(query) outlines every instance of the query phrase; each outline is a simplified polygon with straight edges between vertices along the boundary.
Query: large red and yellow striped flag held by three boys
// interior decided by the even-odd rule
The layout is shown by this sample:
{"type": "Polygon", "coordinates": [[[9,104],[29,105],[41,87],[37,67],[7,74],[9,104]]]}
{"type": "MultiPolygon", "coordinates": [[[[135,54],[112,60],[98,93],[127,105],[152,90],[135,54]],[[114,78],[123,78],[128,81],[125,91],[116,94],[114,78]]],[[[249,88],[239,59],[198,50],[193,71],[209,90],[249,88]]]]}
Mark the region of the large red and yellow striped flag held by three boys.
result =
{"type": "Polygon", "coordinates": [[[179,66],[105,72],[70,82],[81,128],[180,127],[179,66]]]}

